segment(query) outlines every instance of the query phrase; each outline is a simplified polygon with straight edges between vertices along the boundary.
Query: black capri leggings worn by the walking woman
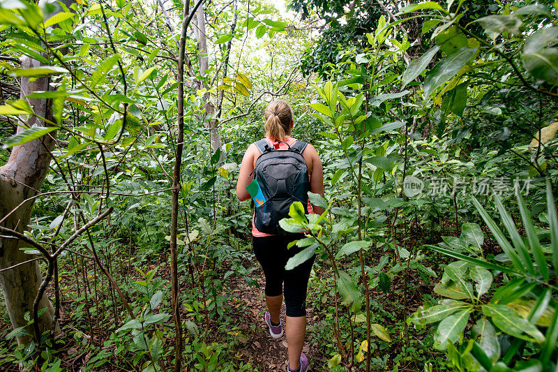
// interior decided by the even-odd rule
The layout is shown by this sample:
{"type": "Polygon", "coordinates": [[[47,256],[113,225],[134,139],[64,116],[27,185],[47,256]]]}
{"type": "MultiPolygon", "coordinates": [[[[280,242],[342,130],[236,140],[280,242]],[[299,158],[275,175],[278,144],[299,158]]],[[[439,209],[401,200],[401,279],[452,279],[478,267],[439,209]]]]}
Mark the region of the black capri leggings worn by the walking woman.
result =
{"type": "Polygon", "coordinates": [[[285,304],[287,316],[297,317],[306,315],[306,290],[308,278],[314,263],[315,255],[310,260],[292,270],[285,270],[289,258],[303,250],[298,246],[287,249],[289,242],[301,239],[304,235],[295,237],[252,237],[254,253],[259,264],[264,269],[266,278],[265,293],[269,297],[278,296],[283,292],[285,283],[285,304]]]}

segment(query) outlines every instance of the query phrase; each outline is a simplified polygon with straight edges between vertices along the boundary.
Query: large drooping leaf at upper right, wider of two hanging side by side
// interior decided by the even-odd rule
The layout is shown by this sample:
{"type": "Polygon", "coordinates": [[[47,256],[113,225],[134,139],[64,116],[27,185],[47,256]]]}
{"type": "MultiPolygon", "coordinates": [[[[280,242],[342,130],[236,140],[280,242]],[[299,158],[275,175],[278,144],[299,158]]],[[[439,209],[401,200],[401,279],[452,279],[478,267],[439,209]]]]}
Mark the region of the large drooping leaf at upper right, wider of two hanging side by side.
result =
{"type": "Polygon", "coordinates": [[[477,50],[477,47],[462,47],[457,52],[440,60],[432,70],[428,71],[424,79],[424,99],[428,99],[433,91],[468,64],[477,50]]]}

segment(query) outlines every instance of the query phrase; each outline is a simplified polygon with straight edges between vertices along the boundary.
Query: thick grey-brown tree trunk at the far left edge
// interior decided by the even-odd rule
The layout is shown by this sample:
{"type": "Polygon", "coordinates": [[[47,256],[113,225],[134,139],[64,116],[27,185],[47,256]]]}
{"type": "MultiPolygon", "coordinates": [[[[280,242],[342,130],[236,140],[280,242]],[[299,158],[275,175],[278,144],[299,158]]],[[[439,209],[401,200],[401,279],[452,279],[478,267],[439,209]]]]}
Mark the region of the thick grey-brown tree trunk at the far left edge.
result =
{"type": "MultiPolygon", "coordinates": [[[[22,57],[22,68],[40,66],[40,63],[28,57],[22,57]]],[[[30,81],[28,77],[22,77],[21,98],[33,91],[47,91],[49,89],[50,77],[39,77],[30,81]]],[[[33,111],[40,117],[52,118],[52,101],[47,99],[28,99],[33,111]]],[[[45,126],[45,123],[36,117],[20,117],[22,122],[27,121],[28,126],[45,126]]],[[[23,127],[17,128],[17,132],[23,131],[23,127]]],[[[15,146],[6,165],[0,167],[0,218],[4,218],[18,204],[35,196],[47,175],[50,163],[50,150],[54,147],[56,132],[51,132],[41,138],[15,146]]],[[[6,228],[17,232],[27,230],[31,218],[31,210],[35,200],[29,200],[17,208],[1,223],[6,228]]],[[[0,269],[17,265],[31,258],[20,250],[25,246],[17,239],[0,238],[0,269]]],[[[42,281],[38,261],[29,262],[13,269],[1,271],[0,283],[2,285],[6,308],[10,315],[10,321],[14,328],[27,325],[24,315],[27,311],[32,313],[33,301],[42,281]]],[[[54,308],[47,297],[40,300],[39,308],[47,308],[47,311],[39,318],[40,332],[52,328],[54,308]]],[[[56,325],[56,327],[58,327],[56,325]]],[[[28,327],[29,334],[33,334],[28,327]]],[[[40,338],[40,335],[38,335],[40,338]]],[[[29,343],[32,336],[20,336],[19,343],[29,343]]]]}

